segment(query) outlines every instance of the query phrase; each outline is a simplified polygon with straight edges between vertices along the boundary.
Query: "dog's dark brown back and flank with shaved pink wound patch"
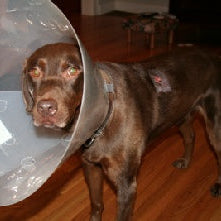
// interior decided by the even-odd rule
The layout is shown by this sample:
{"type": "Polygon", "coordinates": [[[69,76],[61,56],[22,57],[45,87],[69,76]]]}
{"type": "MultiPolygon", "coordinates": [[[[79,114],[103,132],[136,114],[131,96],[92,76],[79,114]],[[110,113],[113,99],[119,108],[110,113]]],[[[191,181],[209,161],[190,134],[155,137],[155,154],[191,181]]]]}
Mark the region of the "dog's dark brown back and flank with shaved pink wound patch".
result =
{"type": "Polygon", "coordinates": [[[111,73],[119,105],[139,113],[137,121],[155,133],[180,123],[219,84],[219,66],[200,50],[178,49],[143,63],[106,63],[101,68],[111,73]]]}

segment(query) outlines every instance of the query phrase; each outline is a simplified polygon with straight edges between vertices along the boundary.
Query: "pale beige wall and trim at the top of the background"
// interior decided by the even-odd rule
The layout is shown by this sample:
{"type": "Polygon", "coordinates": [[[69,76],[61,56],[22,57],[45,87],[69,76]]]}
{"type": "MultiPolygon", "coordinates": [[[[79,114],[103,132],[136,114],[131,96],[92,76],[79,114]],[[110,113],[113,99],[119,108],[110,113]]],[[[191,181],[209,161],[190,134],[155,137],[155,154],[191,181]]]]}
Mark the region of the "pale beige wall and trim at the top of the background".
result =
{"type": "Polygon", "coordinates": [[[140,12],[168,12],[169,0],[81,0],[83,15],[101,15],[113,10],[140,12]]]}

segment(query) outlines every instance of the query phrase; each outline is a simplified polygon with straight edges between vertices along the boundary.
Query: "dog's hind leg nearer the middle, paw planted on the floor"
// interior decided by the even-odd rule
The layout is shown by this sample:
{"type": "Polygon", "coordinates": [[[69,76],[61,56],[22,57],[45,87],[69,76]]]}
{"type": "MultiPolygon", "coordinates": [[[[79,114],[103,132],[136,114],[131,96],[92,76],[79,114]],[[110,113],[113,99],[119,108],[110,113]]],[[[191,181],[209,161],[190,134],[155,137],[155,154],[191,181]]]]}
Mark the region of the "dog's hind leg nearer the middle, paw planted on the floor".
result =
{"type": "Polygon", "coordinates": [[[181,158],[178,158],[173,162],[173,166],[176,168],[187,168],[190,164],[194,144],[195,144],[195,132],[192,126],[193,116],[188,114],[185,121],[180,125],[179,130],[184,139],[184,154],[181,158]]]}

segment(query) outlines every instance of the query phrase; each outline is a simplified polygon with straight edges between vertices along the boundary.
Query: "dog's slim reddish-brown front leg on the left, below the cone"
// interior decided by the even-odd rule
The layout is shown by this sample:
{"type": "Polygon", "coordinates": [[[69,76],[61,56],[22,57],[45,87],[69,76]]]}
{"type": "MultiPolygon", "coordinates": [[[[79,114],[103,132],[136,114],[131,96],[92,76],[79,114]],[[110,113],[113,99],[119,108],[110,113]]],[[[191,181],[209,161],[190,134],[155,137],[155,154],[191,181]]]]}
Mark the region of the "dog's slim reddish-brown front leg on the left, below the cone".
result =
{"type": "Polygon", "coordinates": [[[103,204],[103,171],[99,165],[89,163],[83,160],[85,180],[88,184],[91,200],[90,221],[101,221],[103,204]]]}

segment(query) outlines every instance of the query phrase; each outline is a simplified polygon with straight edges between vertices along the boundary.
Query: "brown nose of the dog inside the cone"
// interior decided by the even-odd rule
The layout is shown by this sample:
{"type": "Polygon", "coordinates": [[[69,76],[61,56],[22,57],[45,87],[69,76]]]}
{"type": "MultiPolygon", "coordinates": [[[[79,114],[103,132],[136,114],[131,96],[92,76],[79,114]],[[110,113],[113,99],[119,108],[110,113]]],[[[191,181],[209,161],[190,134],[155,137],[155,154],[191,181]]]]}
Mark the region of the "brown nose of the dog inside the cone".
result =
{"type": "Polygon", "coordinates": [[[57,102],[55,100],[41,100],[37,104],[37,111],[42,116],[53,116],[57,112],[57,102]]]}

